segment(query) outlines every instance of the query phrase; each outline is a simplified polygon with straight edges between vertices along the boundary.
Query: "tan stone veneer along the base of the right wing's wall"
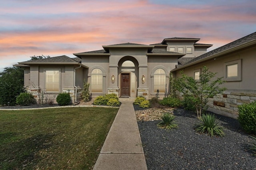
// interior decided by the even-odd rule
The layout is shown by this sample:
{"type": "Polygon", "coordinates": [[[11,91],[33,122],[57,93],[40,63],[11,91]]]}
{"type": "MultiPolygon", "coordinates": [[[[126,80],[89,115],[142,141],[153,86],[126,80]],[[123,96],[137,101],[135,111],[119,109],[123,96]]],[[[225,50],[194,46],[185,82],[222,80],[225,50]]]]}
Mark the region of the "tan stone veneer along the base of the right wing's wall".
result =
{"type": "MultiPolygon", "coordinates": [[[[178,94],[182,97],[182,94],[178,94]]],[[[237,119],[238,106],[256,101],[256,91],[225,91],[208,100],[208,111],[237,119]]]]}

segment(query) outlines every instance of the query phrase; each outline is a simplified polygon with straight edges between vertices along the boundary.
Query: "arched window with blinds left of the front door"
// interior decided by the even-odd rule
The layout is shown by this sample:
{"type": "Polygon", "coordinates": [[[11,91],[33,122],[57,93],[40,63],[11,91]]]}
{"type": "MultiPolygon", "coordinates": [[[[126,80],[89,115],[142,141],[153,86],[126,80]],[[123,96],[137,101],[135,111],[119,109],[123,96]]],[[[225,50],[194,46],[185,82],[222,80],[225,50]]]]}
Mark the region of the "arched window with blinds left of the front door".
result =
{"type": "Polygon", "coordinates": [[[94,68],[91,72],[91,90],[92,92],[103,91],[103,73],[100,68],[94,68]]]}

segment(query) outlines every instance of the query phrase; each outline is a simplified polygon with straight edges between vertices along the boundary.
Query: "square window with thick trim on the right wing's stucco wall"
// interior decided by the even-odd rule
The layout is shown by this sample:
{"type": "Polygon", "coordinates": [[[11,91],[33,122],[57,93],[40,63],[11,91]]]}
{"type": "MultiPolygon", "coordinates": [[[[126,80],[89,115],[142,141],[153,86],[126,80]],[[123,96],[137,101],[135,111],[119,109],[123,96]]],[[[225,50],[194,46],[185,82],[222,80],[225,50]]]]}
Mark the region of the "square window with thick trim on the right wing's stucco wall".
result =
{"type": "Polygon", "coordinates": [[[242,59],[224,63],[224,79],[226,81],[241,81],[242,59]]]}

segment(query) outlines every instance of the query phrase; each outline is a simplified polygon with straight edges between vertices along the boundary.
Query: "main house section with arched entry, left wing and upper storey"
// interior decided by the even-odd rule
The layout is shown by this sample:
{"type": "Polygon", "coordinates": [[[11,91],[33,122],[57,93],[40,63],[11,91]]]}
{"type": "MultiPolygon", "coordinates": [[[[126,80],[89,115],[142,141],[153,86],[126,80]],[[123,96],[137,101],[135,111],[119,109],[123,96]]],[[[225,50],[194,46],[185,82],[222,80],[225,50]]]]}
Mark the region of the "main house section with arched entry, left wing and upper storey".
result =
{"type": "Polygon", "coordinates": [[[167,38],[161,43],[142,45],[123,43],[104,45],[103,49],[20,62],[24,67],[24,86],[37,100],[70,92],[72,102],[80,101],[84,80],[90,83],[92,97],[115,93],[119,97],[152,98],[159,90],[168,94],[168,80],[178,64],[204,53],[210,44],[197,38],[167,38]]]}

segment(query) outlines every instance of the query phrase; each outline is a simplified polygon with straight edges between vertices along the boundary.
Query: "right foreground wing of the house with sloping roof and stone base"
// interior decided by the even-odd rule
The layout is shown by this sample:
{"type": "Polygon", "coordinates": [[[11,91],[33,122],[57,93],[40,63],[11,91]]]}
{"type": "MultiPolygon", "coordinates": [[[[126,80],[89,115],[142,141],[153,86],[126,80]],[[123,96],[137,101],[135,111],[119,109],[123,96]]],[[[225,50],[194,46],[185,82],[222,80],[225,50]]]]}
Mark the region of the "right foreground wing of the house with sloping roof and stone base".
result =
{"type": "Polygon", "coordinates": [[[256,32],[208,53],[200,55],[171,70],[175,77],[184,74],[199,79],[203,66],[224,77],[226,87],[208,102],[208,110],[229,117],[238,117],[238,106],[256,100],[256,32]]]}

